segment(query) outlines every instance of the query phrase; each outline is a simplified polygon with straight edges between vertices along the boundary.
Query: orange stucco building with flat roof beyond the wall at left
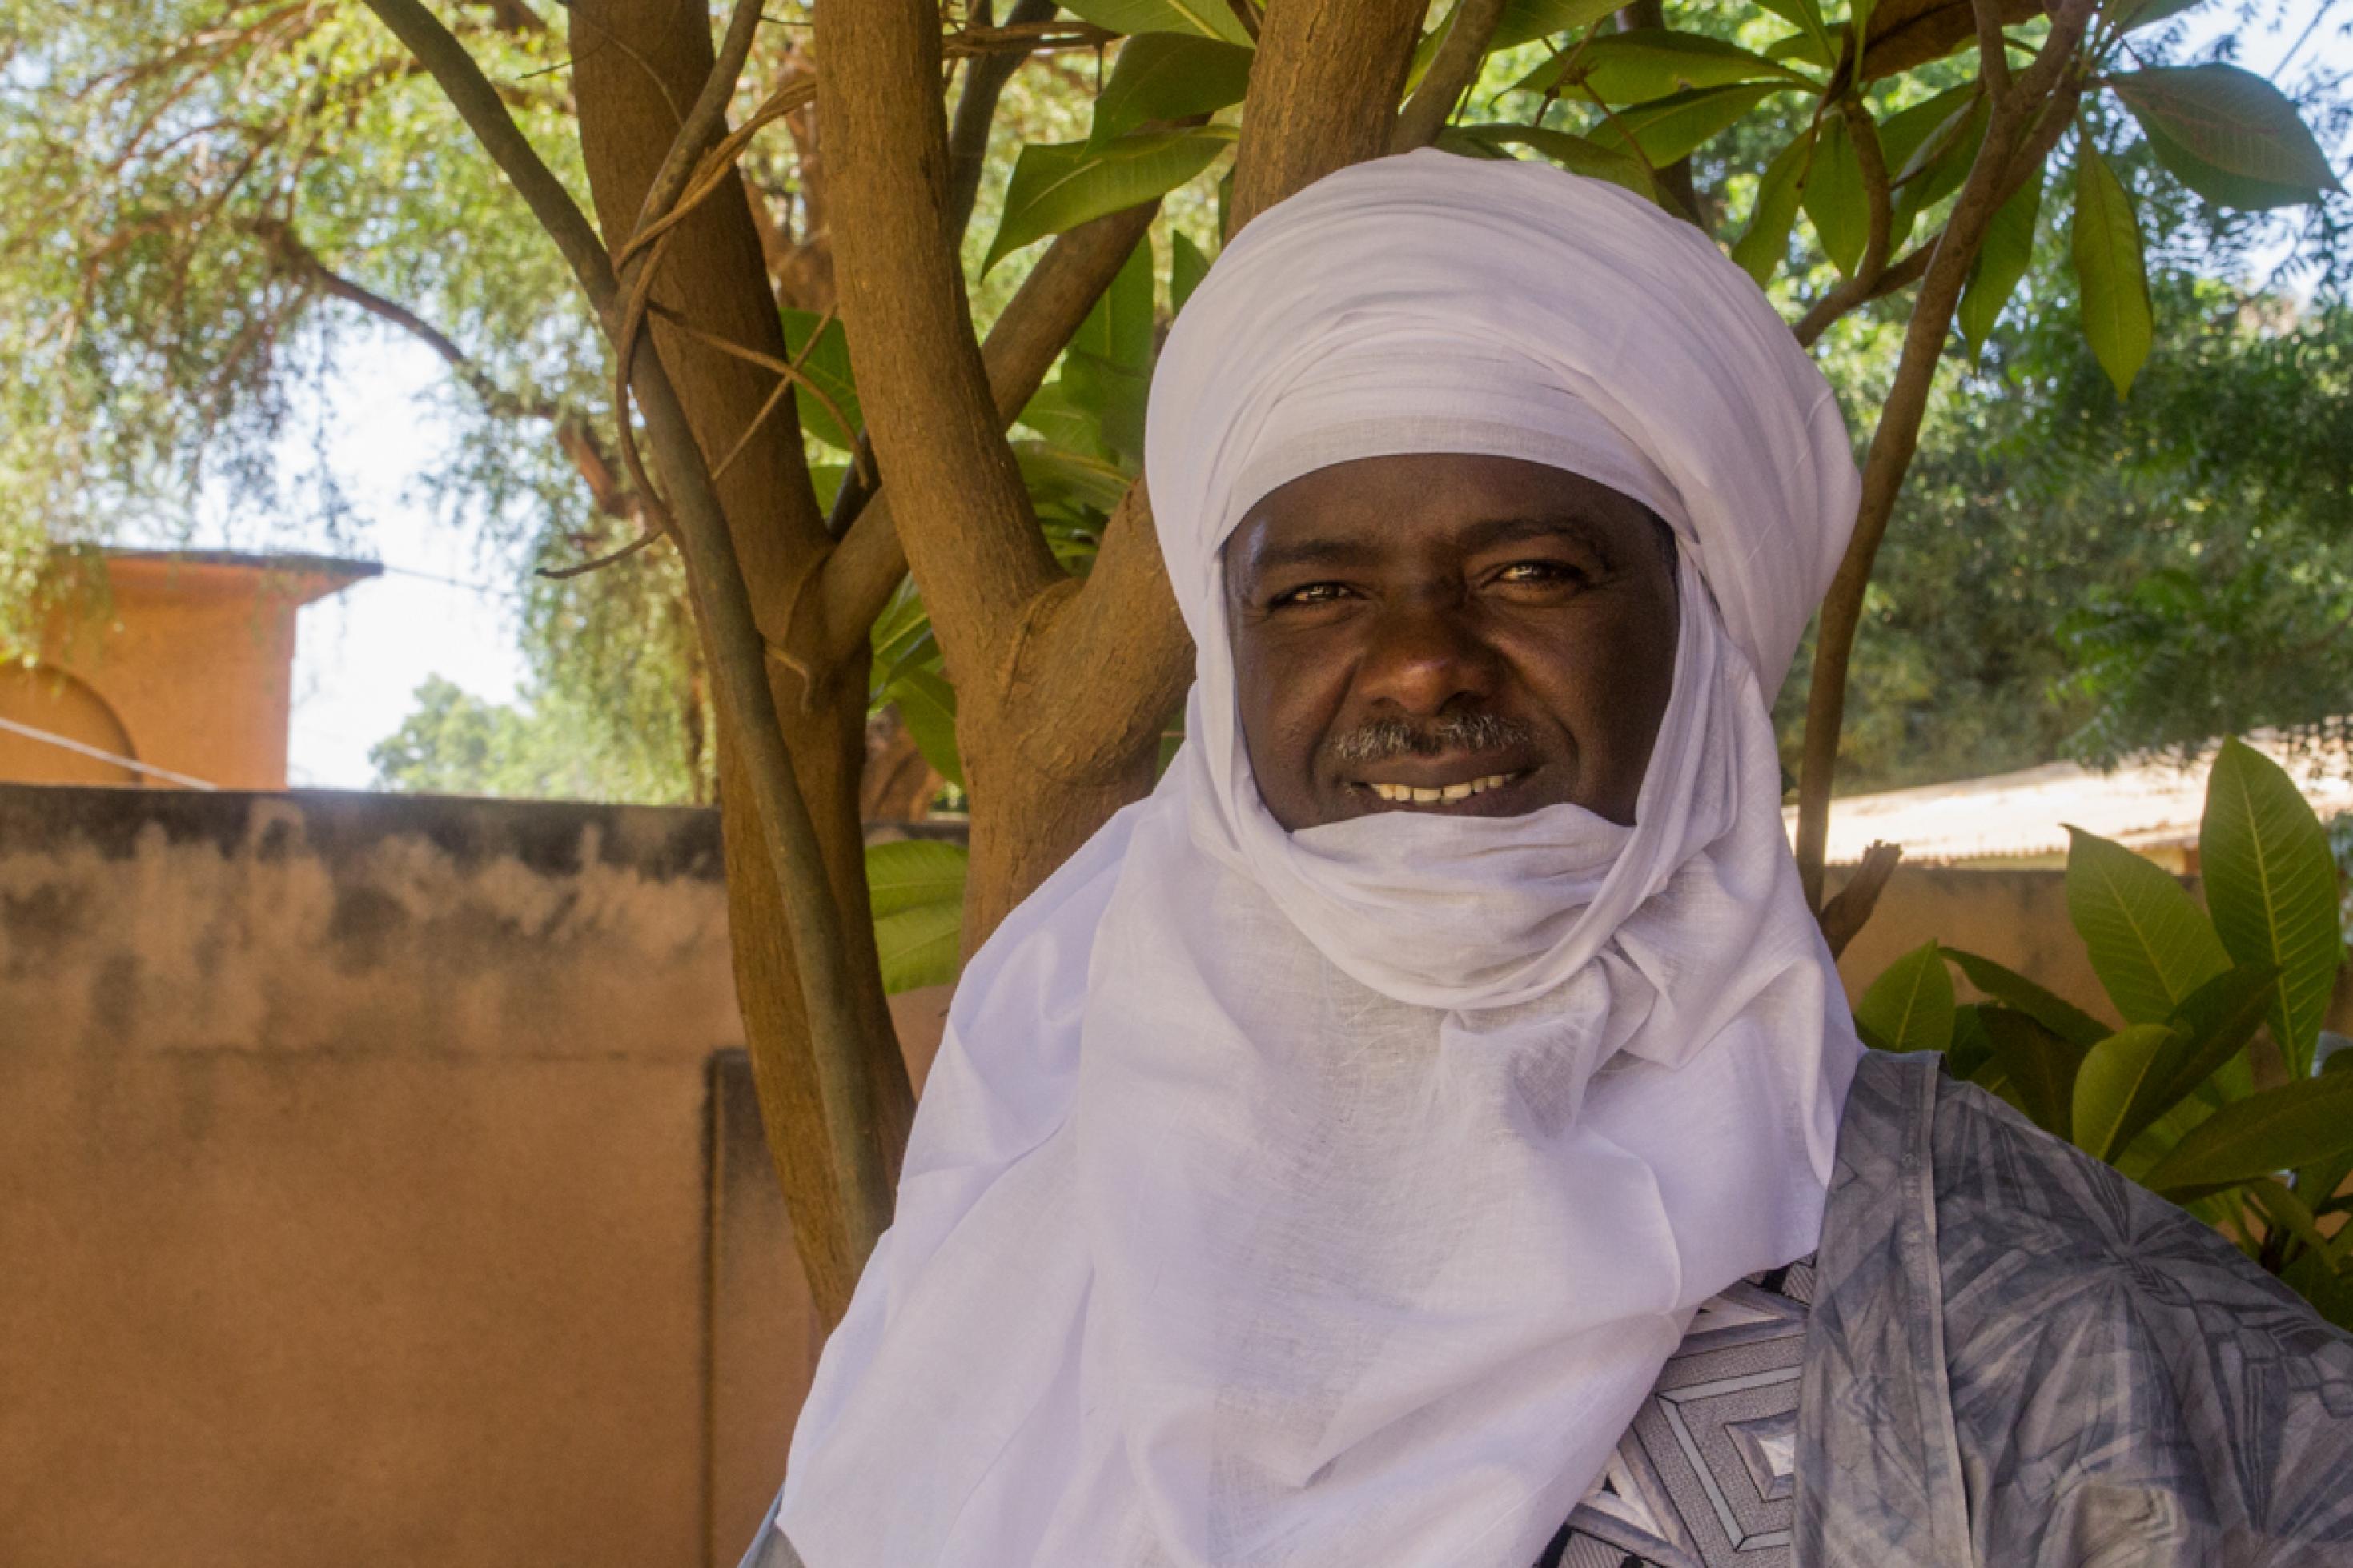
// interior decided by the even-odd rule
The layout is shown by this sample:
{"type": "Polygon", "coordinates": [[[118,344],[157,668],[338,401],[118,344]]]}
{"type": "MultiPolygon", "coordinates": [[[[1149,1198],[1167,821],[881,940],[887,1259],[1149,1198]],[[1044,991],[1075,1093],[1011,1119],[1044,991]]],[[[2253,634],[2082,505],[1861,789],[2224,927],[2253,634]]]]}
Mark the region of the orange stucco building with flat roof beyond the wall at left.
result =
{"type": "Polygon", "coordinates": [[[0,665],[0,780],[282,790],[294,611],[379,571],[322,555],[59,555],[38,656],[0,665]]]}

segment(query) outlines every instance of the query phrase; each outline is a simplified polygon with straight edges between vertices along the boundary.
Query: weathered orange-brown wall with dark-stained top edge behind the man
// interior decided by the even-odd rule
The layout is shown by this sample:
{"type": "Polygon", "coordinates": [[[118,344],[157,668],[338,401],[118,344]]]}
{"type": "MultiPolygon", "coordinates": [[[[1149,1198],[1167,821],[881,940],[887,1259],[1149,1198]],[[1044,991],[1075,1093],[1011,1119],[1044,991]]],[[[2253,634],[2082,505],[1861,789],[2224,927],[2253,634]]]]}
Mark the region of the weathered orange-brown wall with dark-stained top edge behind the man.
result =
{"type": "MultiPolygon", "coordinates": [[[[2099,997],[2052,872],[1849,990],[1929,936],[2099,997]]],[[[732,1563],[814,1356],[739,1041],[713,813],[0,785],[0,1563],[732,1563]]]]}

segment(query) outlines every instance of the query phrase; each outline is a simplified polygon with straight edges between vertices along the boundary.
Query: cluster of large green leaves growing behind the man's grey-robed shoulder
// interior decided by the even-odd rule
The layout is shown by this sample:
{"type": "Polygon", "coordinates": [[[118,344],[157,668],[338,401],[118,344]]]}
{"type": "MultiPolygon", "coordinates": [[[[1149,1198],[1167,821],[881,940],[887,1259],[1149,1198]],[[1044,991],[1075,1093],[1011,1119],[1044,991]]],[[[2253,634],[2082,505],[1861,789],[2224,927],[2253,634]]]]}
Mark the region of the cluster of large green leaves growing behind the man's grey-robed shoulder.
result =
{"type": "Polygon", "coordinates": [[[2226,743],[2198,839],[2212,917],[2129,849],[2073,837],[2068,914],[2122,1030],[1929,943],[1857,1004],[1864,1039],[1946,1051],[1953,1077],[2224,1225],[2353,1326],[2353,1048],[2320,1030],[2346,957],[2320,820],[2275,762],[2226,743]],[[1981,1001],[1953,1004],[1946,959],[1981,1001]]]}

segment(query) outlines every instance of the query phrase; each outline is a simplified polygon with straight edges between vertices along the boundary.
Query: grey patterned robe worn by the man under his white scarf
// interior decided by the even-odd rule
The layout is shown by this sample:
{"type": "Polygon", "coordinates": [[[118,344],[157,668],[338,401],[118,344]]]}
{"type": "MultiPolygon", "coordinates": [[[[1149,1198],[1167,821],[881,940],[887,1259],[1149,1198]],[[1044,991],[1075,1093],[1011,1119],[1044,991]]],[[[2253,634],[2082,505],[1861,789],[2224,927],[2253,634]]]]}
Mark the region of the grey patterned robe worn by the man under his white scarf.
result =
{"type": "MultiPolygon", "coordinates": [[[[1774,1281],[1812,1298],[1793,1356],[1793,1486],[1751,1455],[1760,1497],[1701,1488],[1725,1495],[1659,1509],[1671,1540],[1640,1554],[1605,1547],[1631,1540],[1588,1497],[1548,1561],[2353,1568],[2353,1335],[1939,1060],[1864,1058],[1809,1288],[1774,1281]],[[1718,1514],[1746,1537],[1708,1535],[1718,1514]]],[[[1711,1363],[1725,1335],[1706,1314],[1694,1324],[1621,1455],[1638,1458],[1654,1415],[1697,1460],[1715,1436],[1739,1453],[1741,1427],[1779,1450],[1786,1396],[1727,1408],[1722,1432],[1697,1420],[1701,1380],[1788,1382],[1711,1363]],[[1720,1340],[1697,1340],[1708,1333],[1720,1340]]],[[[1659,1434],[1652,1448],[1671,1453],[1659,1434]]],[[[744,1568],[800,1559],[762,1528],[744,1568]]]]}

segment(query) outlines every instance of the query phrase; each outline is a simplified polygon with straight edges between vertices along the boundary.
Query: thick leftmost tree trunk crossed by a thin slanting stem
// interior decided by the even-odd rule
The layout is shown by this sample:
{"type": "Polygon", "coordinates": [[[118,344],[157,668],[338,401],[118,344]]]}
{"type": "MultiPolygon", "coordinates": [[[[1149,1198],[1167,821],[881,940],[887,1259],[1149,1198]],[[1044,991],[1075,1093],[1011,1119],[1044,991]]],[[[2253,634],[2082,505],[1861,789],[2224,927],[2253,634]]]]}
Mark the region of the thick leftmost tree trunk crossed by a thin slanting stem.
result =
{"type": "MultiPolygon", "coordinates": [[[[699,7],[642,7],[579,0],[572,7],[574,73],[581,101],[581,150],[607,237],[631,233],[664,150],[678,129],[673,103],[692,103],[711,73],[708,14],[699,7]]],[[[784,357],[784,334],[769,294],[760,240],[741,183],[729,183],[682,226],[668,247],[654,301],[706,334],[784,357]]],[[[694,343],[654,320],[661,355],[706,461],[729,451],[772,388],[769,371],[694,343]]],[[[913,1119],[913,1093],[873,957],[859,835],[866,670],[824,658],[819,595],[800,590],[824,564],[831,541],[809,487],[793,421],[760,430],[718,484],[734,555],[753,614],[788,658],[769,661],[776,712],[793,773],[819,835],[826,875],[840,907],[840,940],[854,987],[859,1063],[878,1117],[878,1135],[896,1154],[913,1119]],[[798,665],[798,670],[793,668],[798,665]]],[[[802,1011],[784,896],[753,809],[744,748],[720,731],[720,811],[727,846],[729,931],[736,992],[769,1152],[784,1182],[802,1267],[821,1316],[831,1324],[849,1302],[861,1251],[842,1227],[842,1194],[821,1140],[816,1056],[802,1011]]]]}

